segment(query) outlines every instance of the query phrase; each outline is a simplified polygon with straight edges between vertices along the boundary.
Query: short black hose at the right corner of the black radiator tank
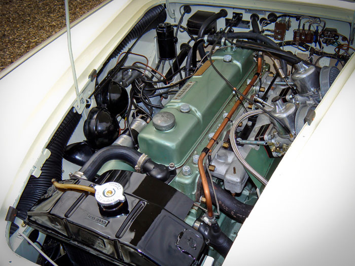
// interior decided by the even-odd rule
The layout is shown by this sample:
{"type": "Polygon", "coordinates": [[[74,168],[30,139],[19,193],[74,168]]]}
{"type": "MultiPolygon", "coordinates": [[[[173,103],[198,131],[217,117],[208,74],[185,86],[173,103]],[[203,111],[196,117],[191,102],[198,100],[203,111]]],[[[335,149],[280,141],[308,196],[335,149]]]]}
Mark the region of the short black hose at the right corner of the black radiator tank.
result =
{"type": "Polygon", "coordinates": [[[224,258],[227,256],[233,241],[222,232],[217,222],[212,223],[210,226],[201,222],[197,231],[200,232],[205,239],[209,240],[208,245],[216,249],[224,258]]]}

